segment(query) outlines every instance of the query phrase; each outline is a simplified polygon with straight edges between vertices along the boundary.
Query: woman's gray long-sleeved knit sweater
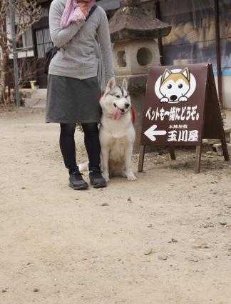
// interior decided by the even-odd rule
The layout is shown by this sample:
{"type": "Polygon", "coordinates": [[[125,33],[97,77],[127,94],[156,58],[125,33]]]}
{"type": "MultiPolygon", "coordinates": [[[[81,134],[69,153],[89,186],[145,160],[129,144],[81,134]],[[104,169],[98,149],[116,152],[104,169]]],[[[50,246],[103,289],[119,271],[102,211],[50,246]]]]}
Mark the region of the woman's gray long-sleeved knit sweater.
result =
{"type": "Polygon", "coordinates": [[[96,35],[101,46],[105,81],[115,76],[106,12],[98,6],[87,21],[73,22],[65,29],[59,23],[66,0],[53,0],[49,13],[53,44],[61,48],[51,60],[49,74],[86,79],[97,76],[96,35]]]}

